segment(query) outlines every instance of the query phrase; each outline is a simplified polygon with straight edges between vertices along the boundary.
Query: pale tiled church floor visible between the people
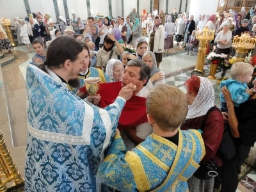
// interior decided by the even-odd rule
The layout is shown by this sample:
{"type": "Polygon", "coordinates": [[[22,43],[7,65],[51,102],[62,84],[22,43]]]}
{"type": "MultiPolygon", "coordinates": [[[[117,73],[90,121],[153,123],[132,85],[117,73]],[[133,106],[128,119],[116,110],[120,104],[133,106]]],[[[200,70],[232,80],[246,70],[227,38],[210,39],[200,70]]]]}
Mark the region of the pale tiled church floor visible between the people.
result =
{"type": "MultiPolygon", "coordinates": [[[[10,106],[10,121],[12,123],[13,134],[10,136],[10,131],[5,130],[4,137],[8,138],[8,147],[12,146],[12,143],[15,147],[9,147],[12,156],[15,159],[16,164],[24,176],[24,150],[26,147],[26,133],[27,133],[27,124],[26,124],[26,66],[27,63],[31,61],[31,58],[35,54],[26,53],[27,48],[24,45],[15,47],[13,53],[17,55],[18,59],[13,63],[10,63],[4,67],[0,67],[0,78],[1,73],[3,74],[5,88],[6,88],[6,98],[10,106]],[[8,133],[9,132],[9,133],[8,133]],[[13,139],[13,142],[9,141],[13,139]],[[20,150],[22,152],[20,152],[20,150]],[[17,155],[19,154],[19,155],[17,155]],[[17,162],[18,161],[18,162],[17,162]]],[[[195,56],[186,56],[182,47],[175,46],[174,49],[170,50],[169,56],[164,56],[163,62],[160,65],[161,70],[163,70],[166,76],[166,83],[173,86],[177,86],[183,92],[186,92],[183,84],[191,76],[190,71],[195,68],[196,58],[195,56]],[[179,52],[177,54],[177,52],[179,52]],[[180,53],[181,52],[181,53],[180,53]]],[[[1,54],[1,52],[0,52],[1,54]]],[[[205,76],[209,74],[209,66],[204,66],[205,76]]],[[[228,75],[227,75],[228,76],[228,75]]],[[[216,74],[216,78],[220,78],[220,73],[216,74]]],[[[218,95],[220,94],[220,86],[216,84],[216,80],[211,80],[214,84],[214,90],[216,95],[216,106],[219,106],[218,95]]],[[[3,90],[0,88],[0,90],[3,90]]],[[[4,96],[4,95],[3,95],[4,96]]],[[[1,92],[0,92],[1,97],[1,92]]],[[[0,100],[1,101],[1,100],[0,100]]],[[[0,103],[1,104],[1,103],[0,103]]],[[[6,111],[0,111],[1,113],[6,113],[6,111]]],[[[7,118],[6,116],[1,116],[0,122],[7,118]]],[[[7,125],[6,125],[7,127],[7,125]]],[[[246,173],[250,166],[243,166],[243,174],[246,173]]],[[[251,190],[251,186],[255,186],[256,183],[256,172],[250,172],[246,177],[239,183],[237,191],[251,190]]],[[[255,189],[255,187],[253,187],[255,189]]]]}

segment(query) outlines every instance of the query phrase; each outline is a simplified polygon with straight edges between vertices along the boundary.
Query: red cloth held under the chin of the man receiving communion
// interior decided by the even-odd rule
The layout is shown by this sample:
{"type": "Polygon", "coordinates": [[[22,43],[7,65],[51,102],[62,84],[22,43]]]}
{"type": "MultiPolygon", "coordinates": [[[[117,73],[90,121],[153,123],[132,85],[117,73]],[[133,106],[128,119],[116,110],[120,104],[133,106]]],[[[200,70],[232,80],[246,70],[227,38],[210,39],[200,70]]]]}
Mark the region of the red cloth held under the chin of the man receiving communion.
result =
{"type": "MultiPolygon", "coordinates": [[[[101,97],[99,107],[105,108],[109,104],[113,104],[121,88],[121,81],[100,84],[100,90],[98,92],[101,97]]],[[[85,87],[79,90],[87,94],[85,87]]],[[[132,95],[131,99],[127,100],[121,113],[118,129],[122,130],[129,127],[136,127],[145,122],[147,122],[146,98],[132,95]]]]}

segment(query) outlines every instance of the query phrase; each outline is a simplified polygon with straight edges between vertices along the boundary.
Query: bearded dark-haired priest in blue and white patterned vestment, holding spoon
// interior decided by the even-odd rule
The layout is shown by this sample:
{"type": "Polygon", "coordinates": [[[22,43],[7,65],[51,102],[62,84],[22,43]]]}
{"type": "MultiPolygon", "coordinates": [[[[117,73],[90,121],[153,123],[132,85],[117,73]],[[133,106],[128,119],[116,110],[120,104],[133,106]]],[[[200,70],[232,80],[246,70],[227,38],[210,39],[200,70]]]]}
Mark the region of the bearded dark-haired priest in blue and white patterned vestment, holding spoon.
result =
{"type": "Polygon", "coordinates": [[[89,63],[88,47],[60,36],[50,45],[44,64],[28,65],[26,191],[107,190],[97,175],[98,166],[136,86],[125,86],[113,104],[98,108],[98,95],[82,100],[67,88],[78,86],[84,63],[89,63]]]}

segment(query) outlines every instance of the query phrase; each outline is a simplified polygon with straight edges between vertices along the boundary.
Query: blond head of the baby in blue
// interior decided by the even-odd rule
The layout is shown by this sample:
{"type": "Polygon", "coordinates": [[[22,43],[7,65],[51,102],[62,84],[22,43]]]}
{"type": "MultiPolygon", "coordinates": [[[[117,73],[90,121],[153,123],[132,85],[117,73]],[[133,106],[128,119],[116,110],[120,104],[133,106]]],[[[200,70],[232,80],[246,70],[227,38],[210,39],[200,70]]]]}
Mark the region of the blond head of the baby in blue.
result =
{"type": "Polygon", "coordinates": [[[249,63],[237,62],[230,69],[232,79],[241,83],[249,83],[252,80],[253,66],[249,63]]]}

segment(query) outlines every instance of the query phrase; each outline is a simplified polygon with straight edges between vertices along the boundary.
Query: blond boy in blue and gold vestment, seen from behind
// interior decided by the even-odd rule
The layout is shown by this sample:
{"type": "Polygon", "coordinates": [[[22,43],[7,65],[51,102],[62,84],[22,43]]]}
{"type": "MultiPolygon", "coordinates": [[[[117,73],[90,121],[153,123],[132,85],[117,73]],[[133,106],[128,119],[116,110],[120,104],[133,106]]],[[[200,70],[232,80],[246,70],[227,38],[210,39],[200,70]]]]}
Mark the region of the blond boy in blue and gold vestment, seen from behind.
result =
{"type": "Polygon", "coordinates": [[[186,97],[179,88],[159,84],[150,90],[146,106],[154,134],[127,152],[116,131],[99,167],[100,179],[119,191],[188,191],[187,180],[205,148],[200,132],[179,129],[188,112],[186,97]]]}

